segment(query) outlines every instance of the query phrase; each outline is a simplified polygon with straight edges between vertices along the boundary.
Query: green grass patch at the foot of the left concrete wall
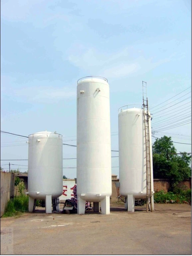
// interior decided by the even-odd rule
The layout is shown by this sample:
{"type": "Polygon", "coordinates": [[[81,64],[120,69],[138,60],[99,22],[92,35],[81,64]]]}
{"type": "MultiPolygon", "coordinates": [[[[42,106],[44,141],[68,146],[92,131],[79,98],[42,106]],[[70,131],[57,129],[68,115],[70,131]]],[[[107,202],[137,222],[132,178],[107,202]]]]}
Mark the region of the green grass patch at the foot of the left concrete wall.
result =
{"type": "Polygon", "coordinates": [[[12,217],[19,216],[23,212],[27,212],[29,207],[29,197],[28,196],[17,196],[10,199],[6,205],[5,213],[2,217],[12,217]]]}

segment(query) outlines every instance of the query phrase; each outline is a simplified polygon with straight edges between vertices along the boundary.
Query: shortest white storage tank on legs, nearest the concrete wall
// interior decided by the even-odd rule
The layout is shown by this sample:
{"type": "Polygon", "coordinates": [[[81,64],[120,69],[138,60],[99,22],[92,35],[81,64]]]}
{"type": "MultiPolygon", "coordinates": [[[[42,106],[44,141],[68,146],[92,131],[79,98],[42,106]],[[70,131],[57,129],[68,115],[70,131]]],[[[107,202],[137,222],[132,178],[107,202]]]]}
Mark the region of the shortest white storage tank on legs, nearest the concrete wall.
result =
{"type": "Polygon", "coordinates": [[[49,131],[29,135],[28,194],[29,211],[34,199],[45,200],[46,213],[52,212],[52,199],[63,193],[62,135],[49,131]]]}

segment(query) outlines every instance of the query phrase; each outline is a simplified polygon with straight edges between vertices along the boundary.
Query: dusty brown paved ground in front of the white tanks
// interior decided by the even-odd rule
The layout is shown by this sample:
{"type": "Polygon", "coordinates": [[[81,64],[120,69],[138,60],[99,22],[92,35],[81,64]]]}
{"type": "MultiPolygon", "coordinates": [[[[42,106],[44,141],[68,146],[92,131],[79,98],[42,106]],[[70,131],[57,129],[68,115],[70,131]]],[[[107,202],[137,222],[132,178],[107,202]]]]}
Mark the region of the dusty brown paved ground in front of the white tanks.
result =
{"type": "MultiPolygon", "coordinates": [[[[1,218],[1,255],[191,255],[191,206],[155,204],[146,213],[111,207],[110,215],[42,210],[1,218]]],[[[39,208],[40,209],[40,208],[39,208]]]]}

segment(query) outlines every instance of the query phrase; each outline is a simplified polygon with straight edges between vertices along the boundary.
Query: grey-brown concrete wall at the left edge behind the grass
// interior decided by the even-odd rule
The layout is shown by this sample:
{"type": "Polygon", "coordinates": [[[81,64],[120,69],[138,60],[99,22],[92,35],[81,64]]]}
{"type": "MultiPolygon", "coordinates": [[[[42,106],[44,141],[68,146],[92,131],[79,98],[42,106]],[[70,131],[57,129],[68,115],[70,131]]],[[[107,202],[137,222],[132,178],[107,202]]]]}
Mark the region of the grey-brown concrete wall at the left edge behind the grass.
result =
{"type": "Polygon", "coordinates": [[[15,186],[15,174],[11,172],[1,171],[1,202],[0,202],[0,212],[1,216],[5,212],[5,207],[7,202],[11,197],[14,196],[14,186],[15,186]]]}

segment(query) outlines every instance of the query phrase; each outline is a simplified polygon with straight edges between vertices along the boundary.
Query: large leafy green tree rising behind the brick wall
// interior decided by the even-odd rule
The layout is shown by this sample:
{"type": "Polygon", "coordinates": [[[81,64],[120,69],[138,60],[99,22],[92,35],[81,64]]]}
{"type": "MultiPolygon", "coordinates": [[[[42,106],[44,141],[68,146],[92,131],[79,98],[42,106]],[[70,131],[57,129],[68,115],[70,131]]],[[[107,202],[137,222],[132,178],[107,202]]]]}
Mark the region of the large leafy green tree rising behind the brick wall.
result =
{"type": "Polygon", "coordinates": [[[177,154],[171,137],[156,139],[152,146],[153,177],[171,179],[172,184],[191,176],[191,156],[186,152],[177,154]]]}

